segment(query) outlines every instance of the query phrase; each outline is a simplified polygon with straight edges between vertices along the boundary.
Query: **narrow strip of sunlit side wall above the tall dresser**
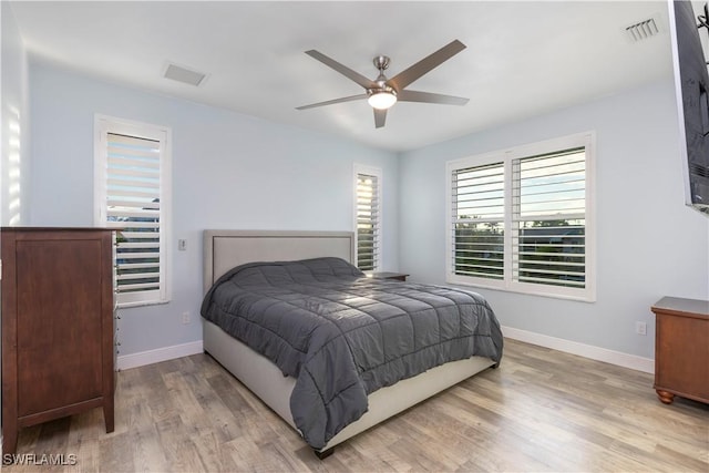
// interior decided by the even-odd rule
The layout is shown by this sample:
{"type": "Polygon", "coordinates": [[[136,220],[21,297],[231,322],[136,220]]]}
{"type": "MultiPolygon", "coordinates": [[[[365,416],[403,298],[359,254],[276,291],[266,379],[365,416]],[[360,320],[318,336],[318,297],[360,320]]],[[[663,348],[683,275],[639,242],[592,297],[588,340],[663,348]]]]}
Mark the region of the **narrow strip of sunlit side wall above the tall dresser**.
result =
{"type": "Polygon", "coordinates": [[[2,2],[2,160],[0,161],[0,224],[29,222],[30,126],[28,61],[12,8],[2,2]]]}

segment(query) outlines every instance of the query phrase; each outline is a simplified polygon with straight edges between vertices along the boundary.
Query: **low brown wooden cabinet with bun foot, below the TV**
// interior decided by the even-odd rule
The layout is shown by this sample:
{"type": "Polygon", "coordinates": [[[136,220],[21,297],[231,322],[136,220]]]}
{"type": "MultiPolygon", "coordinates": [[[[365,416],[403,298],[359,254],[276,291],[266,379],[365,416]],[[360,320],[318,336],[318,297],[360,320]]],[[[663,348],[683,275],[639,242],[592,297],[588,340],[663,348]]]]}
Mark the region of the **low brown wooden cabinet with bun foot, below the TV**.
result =
{"type": "Polygon", "coordinates": [[[709,301],[665,297],[655,312],[655,390],[709,403],[709,301]]]}

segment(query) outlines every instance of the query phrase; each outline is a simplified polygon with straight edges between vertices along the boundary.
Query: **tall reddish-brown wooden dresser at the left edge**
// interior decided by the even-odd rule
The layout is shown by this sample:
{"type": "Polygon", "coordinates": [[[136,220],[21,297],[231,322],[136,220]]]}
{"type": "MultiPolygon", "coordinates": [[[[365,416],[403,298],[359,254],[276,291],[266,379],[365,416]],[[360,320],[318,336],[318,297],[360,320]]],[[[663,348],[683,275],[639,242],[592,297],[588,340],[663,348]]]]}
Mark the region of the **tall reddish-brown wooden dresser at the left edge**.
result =
{"type": "Polygon", "coordinates": [[[2,453],[18,431],[102,407],[113,431],[113,234],[2,228],[2,453]]]}

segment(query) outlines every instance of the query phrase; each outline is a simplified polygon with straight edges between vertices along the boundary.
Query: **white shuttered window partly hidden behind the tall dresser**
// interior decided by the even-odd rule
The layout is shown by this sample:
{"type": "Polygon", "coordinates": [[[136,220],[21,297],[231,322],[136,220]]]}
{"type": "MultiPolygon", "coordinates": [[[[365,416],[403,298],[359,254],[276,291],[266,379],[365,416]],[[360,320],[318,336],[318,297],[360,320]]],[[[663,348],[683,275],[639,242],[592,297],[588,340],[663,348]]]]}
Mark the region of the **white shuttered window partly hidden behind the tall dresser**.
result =
{"type": "Polygon", "coordinates": [[[95,224],[117,228],[121,307],[169,299],[169,162],[166,127],[96,116],[95,224]]]}

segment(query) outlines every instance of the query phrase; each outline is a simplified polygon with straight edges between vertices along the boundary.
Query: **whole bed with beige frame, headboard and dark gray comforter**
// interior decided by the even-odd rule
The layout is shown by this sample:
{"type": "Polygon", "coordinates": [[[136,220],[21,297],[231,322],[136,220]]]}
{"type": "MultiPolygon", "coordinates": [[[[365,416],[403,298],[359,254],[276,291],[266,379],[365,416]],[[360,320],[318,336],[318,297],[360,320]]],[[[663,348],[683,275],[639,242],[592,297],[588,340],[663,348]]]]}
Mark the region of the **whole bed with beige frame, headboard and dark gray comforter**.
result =
{"type": "MultiPolygon", "coordinates": [[[[320,457],[331,454],[333,448],[347,439],[473,374],[496,367],[500,362],[502,335],[494,313],[489,309],[484,299],[474,292],[458,289],[392,280],[374,281],[371,278],[362,277],[363,275],[350,265],[354,254],[352,233],[205,230],[204,248],[205,301],[202,312],[205,352],[215,358],[264,403],[296,429],[320,457]],[[264,261],[266,264],[263,264],[264,261]],[[281,285],[281,280],[286,279],[285,284],[291,286],[284,289],[279,285],[281,285]],[[296,286],[292,286],[294,279],[296,286]],[[277,281],[275,287],[274,280],[277,281]],[[297,287],[297,290],[304,294],[307,292],[307,297],[301,296],[300,292],[294,292],[292,287],[297,287]],[[281,291],[285,292],[281,294],[281,291]],[[405,294],[400,295],[399,292],[402,291],[405,294]],[[219,296],[220,292],[230,295],[228,297],[238,298],[234,299],[236,301],[225,302],[217,299],[217,296],[225,297],[219,296]],[[370,301],[368,298],[374,297],[372,295],[383,297],[383,302],[370,301]],[[411,295],[421,301],[409,300],[411,295]],[[420,347],[411,346],[407,349],[409,351],[405,352],[405,356],[402,356],[402,358],[415,359],[415,363],[425,364],[423,372],[415,374],[410,372],[411,370],[405,362],[400,362],[391,354],[397,350],[404,350],[401,347],[407,345],[405,341],[395,341],[398,332],[392,332],[394,343],[390,342],[388,347],[383,348],[372,345],[360,348],[358,351],[347,343],[340,343],[340,339],[351,343],[351,339],[358,338],[366,340],[364,345],[367,345],[371,339],[377,338],[372,335],[373,330],[379,330],[378,335],[388,330],[386,327],[389,319],[367,325],[361,329],[358,328],[357,330],[362,330],[363,335],[354,330],[350,331],[349,328],[342,329],[341,323],[350,323],[349,313],[359,313],[359,310],[364,306],[374,312],[377,308],[384,306],[393,307],[391,310],[405,312],[411,306],[412,309],[405,316],[397,312],[394,313],[397,317],[392,317],[392,320],[394,318],[408,320],[409,325],[413,327],[412,333],[415,333],[418,338],[431,338],[432,336],[429,335],[431,330],[425,329],[429,326],[420,325],[428,322],[422,322],[421,320],[425,319],[421,318],[420,312],[413,308],[421,305],[442,304],[436,302],[440,299],[439,296],[443,296],[441,300],[444,301],[462,298],[464,304],[461,304],[461,307],[465,305],[472,307],[472,309],[465,308],[466,313],[470,310],[482,310],[484,313],[481,316],[475,312],[471,316],[471,320],[476,326],[474,328],[466,328],[472,322],[464,322],[467,318],[458,316],[459,322],[456,323],[460,327],[454,329],[461,330],[462,327],[467,331],[476,330],[474,336],[452,336],[451,340],[441,338],[440,342],[439,339],[435,339],[436,343],[448,348],[453,347],[449,351],[455,352],[459,358],[461,358],[461,350],[481,351],[485,354],[464,354],[462,359],[440,364],[440,360],[435,361],[440,354],[429,351],[433,348],[417,342],[420,347]],[[309,299],[310,297],[314,299],[309,299]],[[367,302],[361,302],[362,307],[357,306],[359,304],[357,301],[360,300],[367,300],[367,302]],[[281,306],[285,306],[286,309],[281,306]],[[259,309],[259,307],[261,308],[259,309]],[[280,310],[278,322],[270,322],[271,326],[267,327],[255,326],[254,317],[250,315],[243,318],[233,317],[236,312],[261,310],[270,313],[277,309],[280,310]],[[284,316],[284,310],[290,310],[287,317],[284,316]],[[327,328],[330,331],[319,326],[317,329],[307,327],[298,329],[304,333],[326,333],[319,336],[323,341],[317,348],[318,357],[304,353],[302,351],[306,349],[300,350],[297,345],[302,337],[298,333],[294,336],[276,335],[274,343],[270,345],[260,342],[261,337],[271,337],[270,332],[275,331],[275,326],[281,325],[282,320],[288,320],[290,323],[291,312],[304,312],[305,319],[332,317],[325,323],[332,326],[327,328]],[[330,316],[330,313],[337,316],[330,316]],[[246,333],[236,335],[244,342],[228,333],[228,331],[237,330],[237,326],[246,327],[246,333]],[[420,328],[417,333],[417,327],[424,329],[420,328]],[[291,337],[296,341],[282,342],[287,337],[291,337]],[[273,348],[274,346],[277,348],[273,348]],[[342,346],[347,348],[342,349],[342,346]],[[264,350],[265,354],[258,353],[255,349],[264,350]],[[331,359],[327,358],[327,360],[325,356],[320,357],[321,352],[341,353],[346,351],[347,356],[340,354],[337,359],[335,356],[331,359]],[[387,354],[377,354],[379,351],[387,354]],[[314,362],[329,363],[330,368],[328,369],[335,370],[338,374],[331,380],[311,381],[312,373],[325,370],[321,364],[309,364],[314,362]],[[367,377],[366,382],[360,382],[359,378],[352,378],[350,368],[345,367],[350,364],[353,367],[353,372],[359,372],[358,377],[367,377]],[[387,366],[383,367],[384,364],[387,366]],[[390,371],[399,372],[390,374],[390,371]],[[307,376],[299,373],[307,373],[307,376]],[[392,377],[394,376],[404,379],[393,382],[392,377]],[[306,378],[307,380],[304,381],[306,378]],[[316,402],[316,398],[322,405],[314,404],[311,408],[304,408],[306,401],[316,402]],[[354,407],[350,408],[350,404],[354,407]]],[[[435,313],[439,310],[463,311],[456,307],[449,309],[448,302],[444,305],[445,307],[442,309],[436,308],[435,313]]],[[[427,310],[431,311],[431,309],[427,310]]],[[[440,319],[436,326],[439,328],[435,328],[438,330],[436,337],[440,338],[439,331],[444,332],[443,328],[449,326],[450,323],[444,319],[440,319]]],[[[389,332],[387,335],[392,337],[389,332]]],[[[383,336],[381,338],[384,339],[383,336]]],[[[308,343],[315,342],[309,341],[308,343]]]]}

